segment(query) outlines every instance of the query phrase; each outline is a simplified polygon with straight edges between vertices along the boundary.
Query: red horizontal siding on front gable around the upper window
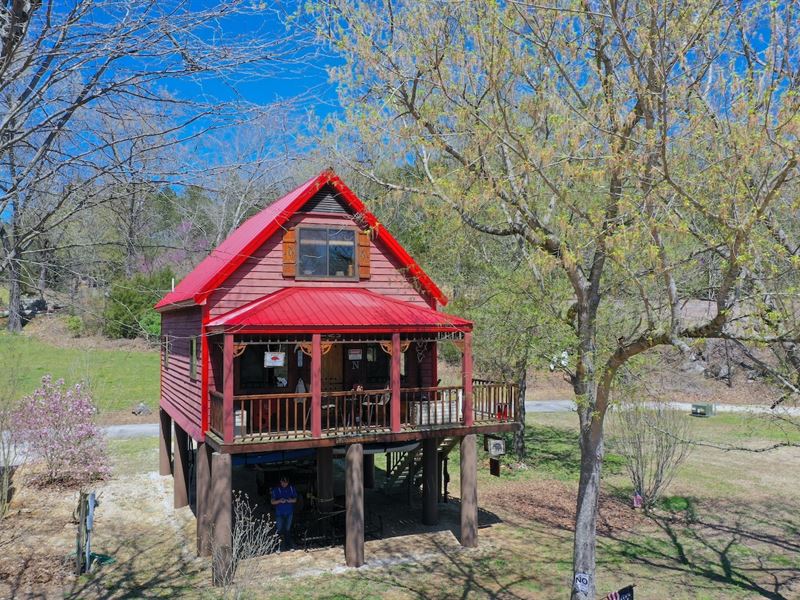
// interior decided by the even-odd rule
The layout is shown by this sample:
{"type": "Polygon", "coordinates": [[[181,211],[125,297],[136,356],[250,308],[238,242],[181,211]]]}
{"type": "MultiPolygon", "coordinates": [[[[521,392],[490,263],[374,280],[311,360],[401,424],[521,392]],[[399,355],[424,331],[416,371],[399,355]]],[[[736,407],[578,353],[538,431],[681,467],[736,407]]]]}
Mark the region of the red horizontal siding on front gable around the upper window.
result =
{"type": "MultiPolygon", "coordinates": [[[[336,215],[297,214],[287,228],[297,225],[349,225],[352,220],[336,215]]],[[[421,306],[435,308],[424,292],[419,292],[406,277],[398,261],[380,242],[370,245],[370,279],[353,281],[297,281],[283,276],[283,231],[277,232],[247,259],[208,299],[211,318],[225,314],[262,296],[285,287],[359,286],[375,293],[421,306]]]]}

